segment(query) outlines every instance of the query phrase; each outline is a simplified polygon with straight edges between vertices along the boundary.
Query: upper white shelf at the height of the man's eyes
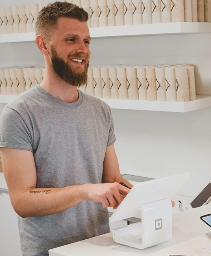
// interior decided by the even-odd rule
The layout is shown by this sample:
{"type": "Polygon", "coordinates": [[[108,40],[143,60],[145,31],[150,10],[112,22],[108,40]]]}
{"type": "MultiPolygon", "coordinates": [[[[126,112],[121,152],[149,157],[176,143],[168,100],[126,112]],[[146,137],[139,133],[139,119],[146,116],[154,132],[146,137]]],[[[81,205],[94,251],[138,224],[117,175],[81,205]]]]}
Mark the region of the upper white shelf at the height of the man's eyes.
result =
{"type": "MultiPolygon", "coordinates": [[[[90,28],[91,38],[107,38],[136,35],[170,35],[189,33],[211,33],[211,22],[170,22],[131,26],[105,26],[90,28]]],[[[0,43],[32,42],[35,32],[0,35],[0,43]]]]}

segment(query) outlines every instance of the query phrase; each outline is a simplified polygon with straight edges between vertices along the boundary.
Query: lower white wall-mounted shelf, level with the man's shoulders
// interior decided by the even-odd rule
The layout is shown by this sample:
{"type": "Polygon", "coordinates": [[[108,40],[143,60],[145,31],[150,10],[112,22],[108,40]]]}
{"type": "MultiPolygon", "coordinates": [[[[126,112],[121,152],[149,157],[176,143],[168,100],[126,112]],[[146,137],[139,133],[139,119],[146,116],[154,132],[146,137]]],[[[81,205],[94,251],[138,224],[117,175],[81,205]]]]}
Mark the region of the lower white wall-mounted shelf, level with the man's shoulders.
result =
{"type": "MultiPolygon", "coordinates": [[[[9,103],[15,100],[18,95],[0,95],[0,103],[9,103]]],[[[189,102],[160,102],[149,100],[131,99],[102,99],[111,108],[130,110],[151,110],[165,112],[189,112],[202,108],[211,107],[210,95],[196,95],[196,100],[189,102]]]]}

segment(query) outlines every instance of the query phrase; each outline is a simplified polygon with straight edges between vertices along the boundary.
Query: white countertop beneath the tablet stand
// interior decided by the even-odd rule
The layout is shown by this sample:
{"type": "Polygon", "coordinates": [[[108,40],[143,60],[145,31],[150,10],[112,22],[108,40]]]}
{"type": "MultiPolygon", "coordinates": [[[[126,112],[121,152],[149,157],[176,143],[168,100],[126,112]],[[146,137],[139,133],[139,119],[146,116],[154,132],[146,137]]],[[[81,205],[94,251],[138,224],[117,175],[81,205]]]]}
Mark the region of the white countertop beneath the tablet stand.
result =
{"type": "Polygon", "coordinates": [[[172,254],[211,256],[211,251],[201,249],[201,236],[211,228],[200,216],[211,213],[211,205],[173,215],[173,238],[170,241],[143,250],[120,245],[113,241],[112,233],[64,245],[49,251],[49,256],[169,256],[172,254]]]}

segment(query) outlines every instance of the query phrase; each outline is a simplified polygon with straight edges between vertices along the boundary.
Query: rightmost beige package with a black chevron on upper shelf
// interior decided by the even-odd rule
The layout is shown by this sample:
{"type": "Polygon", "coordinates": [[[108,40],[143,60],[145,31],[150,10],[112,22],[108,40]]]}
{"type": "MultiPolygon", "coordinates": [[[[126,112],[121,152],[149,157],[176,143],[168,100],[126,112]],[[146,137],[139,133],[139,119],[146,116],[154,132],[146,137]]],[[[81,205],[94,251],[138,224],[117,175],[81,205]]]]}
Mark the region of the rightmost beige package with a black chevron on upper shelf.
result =
{"type": "Polygon", "coordinates": [[[185,22],[184,0],[171,0],[172,22],[185,22]]]}

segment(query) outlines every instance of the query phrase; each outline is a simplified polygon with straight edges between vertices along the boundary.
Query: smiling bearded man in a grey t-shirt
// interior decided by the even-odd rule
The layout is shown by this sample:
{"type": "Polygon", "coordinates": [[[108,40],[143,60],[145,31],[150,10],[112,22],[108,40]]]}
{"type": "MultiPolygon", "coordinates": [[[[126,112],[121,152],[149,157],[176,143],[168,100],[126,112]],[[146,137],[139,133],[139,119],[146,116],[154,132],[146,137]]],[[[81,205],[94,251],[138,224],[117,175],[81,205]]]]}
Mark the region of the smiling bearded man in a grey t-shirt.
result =
{"type": "Polygon", "coordinates": [[[87,13],[67,2],[44,7],[36,44],[43,81],[4,108],[0,147],[24,256],[109,232],[107,207],[131,186],[120,175],[111,109],[77,90],[87,81],[87,13]]]}

